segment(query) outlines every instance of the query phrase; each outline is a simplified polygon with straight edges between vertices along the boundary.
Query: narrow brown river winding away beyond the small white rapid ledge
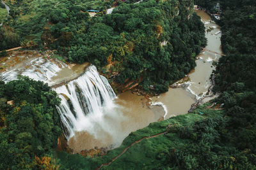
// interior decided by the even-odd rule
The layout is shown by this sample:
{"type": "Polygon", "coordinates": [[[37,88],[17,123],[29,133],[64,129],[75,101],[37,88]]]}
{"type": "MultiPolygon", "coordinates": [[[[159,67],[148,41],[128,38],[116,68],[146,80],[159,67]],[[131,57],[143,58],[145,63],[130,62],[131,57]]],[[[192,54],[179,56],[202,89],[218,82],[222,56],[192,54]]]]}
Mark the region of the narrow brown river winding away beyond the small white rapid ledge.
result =
{"type": "MultiPolygon", "coordinates": [[[[220,27],[211,21],[209,15],[204,11],[198,10],[196,13],[201,17],[205,25],[205,36],[207,38],[207,46],[205,48],[212,52],[221,53],[221,33],[215,34],[220,31],[220,27]]],[[[196,67],[188,75],[189,81],[180,85],[182,88],[170,88],[168,92],[153,97],[152,100],[154,102],[161,102],[168,108],[168,114],[165,118],[188,113],[191,104],[195,103],[200,97],[206,96],[211,86],[210,78],[212,71],[215,70],[212,62],[218,62],[218,59],[221,57],[221,55],[212,52],[201,52],[196,57],[196,67]]]]}

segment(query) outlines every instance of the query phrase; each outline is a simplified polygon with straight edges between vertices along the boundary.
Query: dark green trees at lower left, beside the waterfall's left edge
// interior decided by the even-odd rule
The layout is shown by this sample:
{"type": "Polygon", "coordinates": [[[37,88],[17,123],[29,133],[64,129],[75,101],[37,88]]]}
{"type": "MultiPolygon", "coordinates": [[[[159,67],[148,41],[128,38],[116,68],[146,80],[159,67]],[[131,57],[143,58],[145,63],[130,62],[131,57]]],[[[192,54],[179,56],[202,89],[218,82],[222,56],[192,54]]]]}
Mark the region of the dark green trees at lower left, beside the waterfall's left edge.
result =
{"type": "Polygon", "coordinates": [[[35,156],[51,155],[56,148],[60,99],[48,85],[28,77],[1,81],[0,99],[0,169],[34,169],[35,156]]]}

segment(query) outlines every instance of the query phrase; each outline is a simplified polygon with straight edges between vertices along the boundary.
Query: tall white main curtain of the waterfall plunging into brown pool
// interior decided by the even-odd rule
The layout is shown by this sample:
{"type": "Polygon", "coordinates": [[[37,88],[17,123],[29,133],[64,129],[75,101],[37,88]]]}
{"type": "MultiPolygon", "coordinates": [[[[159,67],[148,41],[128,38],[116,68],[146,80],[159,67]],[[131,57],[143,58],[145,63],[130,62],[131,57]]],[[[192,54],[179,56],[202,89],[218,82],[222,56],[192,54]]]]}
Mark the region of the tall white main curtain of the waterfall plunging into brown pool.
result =
{"type": "Polygon", "coordinates": [[[104,109],[113,107],[116,97],[108,80],[99,75],[95,66],[88,67],[79,78],[54,90],[61,98],[57,109],[67,139],[76,131],[90,128],[90,120],[100,120],[104,109]]]}

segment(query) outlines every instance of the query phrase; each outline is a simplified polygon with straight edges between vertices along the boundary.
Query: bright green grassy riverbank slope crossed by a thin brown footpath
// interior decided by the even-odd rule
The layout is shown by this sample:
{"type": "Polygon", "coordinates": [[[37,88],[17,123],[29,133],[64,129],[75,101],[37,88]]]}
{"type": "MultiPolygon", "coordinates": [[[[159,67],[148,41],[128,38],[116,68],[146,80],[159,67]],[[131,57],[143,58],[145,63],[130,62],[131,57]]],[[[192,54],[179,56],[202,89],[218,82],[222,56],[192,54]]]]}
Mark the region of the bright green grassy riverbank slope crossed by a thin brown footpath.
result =
{"type": "Polygon", "coordinates": [[[214,104],[204,104],[196,108],[193,113],[155,122],[132,133],[125,138],[120,147],[98,157],[100,162],[104,163],[96,169],[131,169],[132,167],[154,169],[172,164],[168,162],[173,159],[172,154],[188,142],[184,139],[186,137],[180,137],[181,129],[192,127],[195,122],[204,122],[207,118],[223,116],[223,110],[209,108],[212,107],[211,105],[214,104]],[[167,159],[168,156],[170,156],[169,159],[167,159]]]}

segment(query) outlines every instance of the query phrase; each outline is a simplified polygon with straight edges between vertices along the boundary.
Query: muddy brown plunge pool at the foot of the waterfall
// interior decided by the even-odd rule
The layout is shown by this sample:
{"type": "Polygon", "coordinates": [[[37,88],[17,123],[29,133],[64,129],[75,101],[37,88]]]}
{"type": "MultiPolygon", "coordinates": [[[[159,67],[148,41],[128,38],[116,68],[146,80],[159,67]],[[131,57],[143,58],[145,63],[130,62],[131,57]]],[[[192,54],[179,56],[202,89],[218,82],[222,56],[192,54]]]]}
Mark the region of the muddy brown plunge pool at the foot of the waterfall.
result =
{"type": "Polygon", "coordinates": [[[68,140],[68,146],[73,152],[90,150],[97,146],[115,148],[133,131],[146,127],[151,122],[163,118],[164,110],[159,106],[149,108],[148,99],[143,96],[124,92],[115,99],[117,107],[111,111],[105,111],[103,120],[107,126],[97,126],[90,132],[82,131],[68,140]]]}

